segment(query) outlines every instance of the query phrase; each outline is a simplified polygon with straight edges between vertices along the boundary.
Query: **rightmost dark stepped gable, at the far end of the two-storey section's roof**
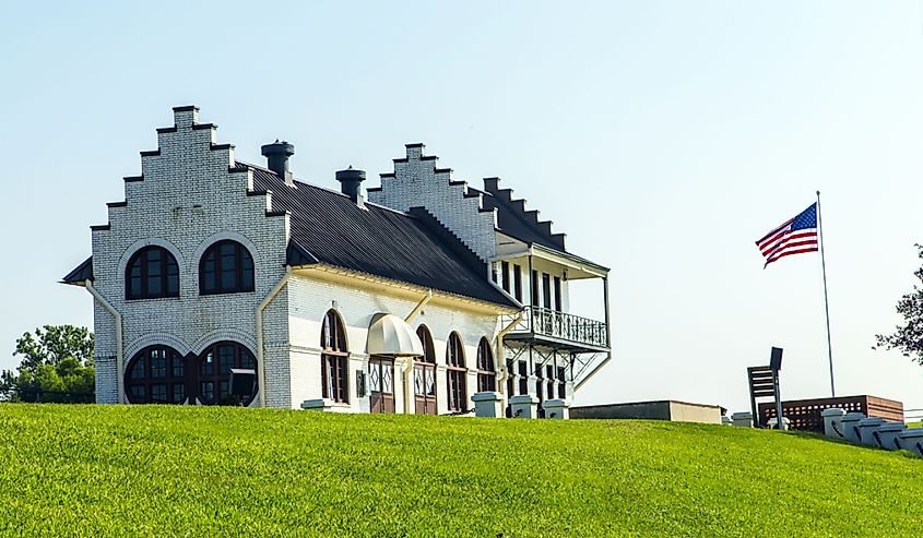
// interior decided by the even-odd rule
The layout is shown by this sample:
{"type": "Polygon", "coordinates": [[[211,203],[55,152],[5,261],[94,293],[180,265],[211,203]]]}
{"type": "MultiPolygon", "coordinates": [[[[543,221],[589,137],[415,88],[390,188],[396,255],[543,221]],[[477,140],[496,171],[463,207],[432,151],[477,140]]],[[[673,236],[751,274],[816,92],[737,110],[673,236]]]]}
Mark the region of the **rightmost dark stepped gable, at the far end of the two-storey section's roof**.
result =
{"type": "Polygon", "coordinates": [[[512,198],[512,189],[500,189],[500,178],[484,178],[484,205],[497,210],[497,228],[521,241],[567,252],[565,234],[552,231],[551,220],[539,220],[537,210],[526,210],[524,199],[512,198]]]}

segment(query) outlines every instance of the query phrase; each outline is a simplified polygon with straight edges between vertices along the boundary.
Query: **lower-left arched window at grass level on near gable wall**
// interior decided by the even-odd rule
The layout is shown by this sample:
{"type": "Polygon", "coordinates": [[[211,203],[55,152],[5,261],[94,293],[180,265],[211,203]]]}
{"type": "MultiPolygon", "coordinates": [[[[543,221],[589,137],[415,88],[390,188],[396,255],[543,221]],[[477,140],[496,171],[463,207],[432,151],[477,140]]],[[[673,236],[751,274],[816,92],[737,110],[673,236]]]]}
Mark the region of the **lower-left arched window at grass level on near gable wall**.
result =
{"type": "Polygon", "coordinates": [[[187,399],[186,363],[179,351],[150,346],[138,351],[125,371],[125,392],[132,404],[182,404],[187,399]]]}

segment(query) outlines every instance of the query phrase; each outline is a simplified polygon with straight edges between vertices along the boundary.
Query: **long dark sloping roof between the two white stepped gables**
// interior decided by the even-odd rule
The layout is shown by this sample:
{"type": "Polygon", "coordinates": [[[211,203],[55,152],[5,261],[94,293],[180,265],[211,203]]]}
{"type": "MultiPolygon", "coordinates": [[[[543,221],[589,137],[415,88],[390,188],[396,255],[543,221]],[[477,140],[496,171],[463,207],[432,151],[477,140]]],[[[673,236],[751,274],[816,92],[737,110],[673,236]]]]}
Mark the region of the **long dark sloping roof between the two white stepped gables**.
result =
{"type": "Polygon", "coordinates": [[[326,263],[514,309],[521,306],[487,279],[487,266],[451,231],[414,208],[410,214],[237,163],[253,188],[272,191],[273,211],[291,214],[289,265],[326,263]],[[460,252],[461,251],[461,252],[460,252]],[[462,255],[466,254],[466,255],[462,255]]]}

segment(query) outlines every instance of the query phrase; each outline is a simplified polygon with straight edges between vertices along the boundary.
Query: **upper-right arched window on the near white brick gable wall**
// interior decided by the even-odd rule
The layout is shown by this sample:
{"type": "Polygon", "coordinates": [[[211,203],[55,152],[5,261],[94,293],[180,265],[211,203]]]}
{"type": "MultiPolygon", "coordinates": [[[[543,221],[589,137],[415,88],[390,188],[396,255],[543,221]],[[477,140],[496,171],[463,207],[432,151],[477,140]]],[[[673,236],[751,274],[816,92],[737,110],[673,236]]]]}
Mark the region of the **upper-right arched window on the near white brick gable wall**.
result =
{"type": "Polygon", "coordinates": [[[199,292],[235,294],[253,290],[253,258],[237,241],[218,241],[199,262],[199,292]]]}

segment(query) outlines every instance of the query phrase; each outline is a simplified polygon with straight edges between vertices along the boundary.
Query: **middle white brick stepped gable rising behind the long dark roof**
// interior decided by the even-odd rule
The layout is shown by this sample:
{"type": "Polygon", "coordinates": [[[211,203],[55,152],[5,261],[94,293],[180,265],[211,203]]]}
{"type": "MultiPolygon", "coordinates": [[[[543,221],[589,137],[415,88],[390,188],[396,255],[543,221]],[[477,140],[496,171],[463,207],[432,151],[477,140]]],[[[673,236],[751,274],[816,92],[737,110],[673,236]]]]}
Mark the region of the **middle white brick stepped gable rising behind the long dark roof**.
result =
{"type": "Polygon", "coordinates": [[[496,253],[494,207],[484,193],[465,181],[452,179],[451,168],[439,168],[435,155],[424,155],[423,144],[406,144],[406,155],[394,159],[394,170],[380,175],[380,187],[366,190],[371,202],[407,212],[425,207],[483,262],[496,253]]]}

